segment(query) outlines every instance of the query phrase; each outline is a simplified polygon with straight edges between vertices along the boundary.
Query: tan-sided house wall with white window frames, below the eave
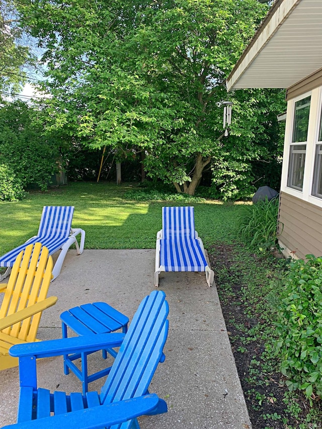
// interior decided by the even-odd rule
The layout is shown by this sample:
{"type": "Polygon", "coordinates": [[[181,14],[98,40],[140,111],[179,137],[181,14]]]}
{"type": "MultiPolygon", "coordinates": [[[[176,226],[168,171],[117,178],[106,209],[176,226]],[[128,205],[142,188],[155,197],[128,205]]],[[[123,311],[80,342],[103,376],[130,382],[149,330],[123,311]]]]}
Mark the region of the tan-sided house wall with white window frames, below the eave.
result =
{"type": "Polygon", "coordinates": [[[322,109],[322,69],[287,90],[287,115],[279,209],[279,241],[284,254],[305,259],[306,254],[322,255],[322,198],[312,195],[315,147],[322,109]],[[295,102],[311,97],[303,174],[303,188],[287,186],[295,102]]]}

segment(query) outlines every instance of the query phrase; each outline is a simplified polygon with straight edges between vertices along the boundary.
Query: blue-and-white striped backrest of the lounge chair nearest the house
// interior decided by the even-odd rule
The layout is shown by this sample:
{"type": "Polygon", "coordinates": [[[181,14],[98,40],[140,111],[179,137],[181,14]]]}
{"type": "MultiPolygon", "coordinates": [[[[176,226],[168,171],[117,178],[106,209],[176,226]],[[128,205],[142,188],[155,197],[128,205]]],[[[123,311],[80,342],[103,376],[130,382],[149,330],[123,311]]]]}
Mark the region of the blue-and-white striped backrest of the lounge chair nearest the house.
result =
{"type": "Polygon", "coordinates": [[[162,238],[196,237],[193,207],[162,208],[162,238]]]}

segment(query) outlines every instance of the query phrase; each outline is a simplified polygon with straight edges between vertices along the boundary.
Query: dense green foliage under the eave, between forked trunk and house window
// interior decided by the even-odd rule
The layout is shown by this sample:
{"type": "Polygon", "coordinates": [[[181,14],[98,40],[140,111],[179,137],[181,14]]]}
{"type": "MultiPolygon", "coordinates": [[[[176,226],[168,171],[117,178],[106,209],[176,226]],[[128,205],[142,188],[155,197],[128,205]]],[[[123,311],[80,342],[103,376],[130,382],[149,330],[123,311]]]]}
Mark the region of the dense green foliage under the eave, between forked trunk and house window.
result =
{"type": "Polygon", "coordinates": [[[237,200],[264,185],[279,191],[285,123],[277,114],[285,110],[284,90],[239,90],[231,97],[231,132],[212,161],[210,195],[237,200]]]}

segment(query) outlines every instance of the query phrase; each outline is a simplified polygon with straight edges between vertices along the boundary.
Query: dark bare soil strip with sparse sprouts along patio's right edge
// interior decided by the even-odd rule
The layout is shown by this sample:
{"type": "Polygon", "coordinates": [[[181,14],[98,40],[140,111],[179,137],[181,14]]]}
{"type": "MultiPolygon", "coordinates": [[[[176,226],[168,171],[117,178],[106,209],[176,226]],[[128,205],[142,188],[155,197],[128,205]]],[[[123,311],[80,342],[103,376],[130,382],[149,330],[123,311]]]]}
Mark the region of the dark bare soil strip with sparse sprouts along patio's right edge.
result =
{"type": "MultiPolygon", "coordinates": [[[[258,336],[253,338],[252,328],[256,325],[264,327],[267,320],[261,318],[258,310],[254,309],[252,312],[252,305],[249,302],[243,302],[240,299],[241,288],[245,285],[240,281],[243,276],[238,275],[234,252],[233,245],[220,244],[213,248],[208,247],[210,265],[215,272],[221,308],[253,429],[317,427],[311,426],[310,423],[299,426],[299,422],[305,420],[305,399],[293,398],[287,401],[288,405],[286,405],[284,395],[287,388],[281,383],[282,375],[271,371],[272,365],[267,365],[265,362],[263,358],[265,341],[258,336]],[[221,274],[218,275],[218,273],[221,274]],[[221,287],[224,283],[229,286],[221,287]],[[292,403],[292,401],[295,402],[292,403]],[[298,419],[287,411],[287,406],[292,405],[301,414],[296,415],[298,419]]],[[[263,281],[267,279],[264,278],[263,281]]],[[[263,305],[267,305],[264,300],[263,305]]]]}

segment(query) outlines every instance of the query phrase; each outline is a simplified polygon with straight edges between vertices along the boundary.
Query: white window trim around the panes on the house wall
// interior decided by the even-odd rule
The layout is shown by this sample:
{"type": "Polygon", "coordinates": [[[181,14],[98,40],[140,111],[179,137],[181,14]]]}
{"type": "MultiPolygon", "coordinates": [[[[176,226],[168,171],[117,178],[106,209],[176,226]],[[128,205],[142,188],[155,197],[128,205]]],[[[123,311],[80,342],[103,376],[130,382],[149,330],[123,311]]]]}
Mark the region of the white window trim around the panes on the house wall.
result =
{"type": "Polygon", "coordinates": [[[318,138],[318,122],[319,115],[321,113],[321,101],[322,87],[319,87],[287,102],[281,191],[322,208],[322,199],[311,195],[315,147],[318,138]],[[303,189],[302,191],[299,191],[287,186],[288,165],[290,146],[292,144],[295,103],[308,96],[311,96],[311,104],[308,119],[307,141],[302,142],[302,144],[306,144],[303,189]]]}

